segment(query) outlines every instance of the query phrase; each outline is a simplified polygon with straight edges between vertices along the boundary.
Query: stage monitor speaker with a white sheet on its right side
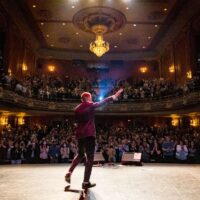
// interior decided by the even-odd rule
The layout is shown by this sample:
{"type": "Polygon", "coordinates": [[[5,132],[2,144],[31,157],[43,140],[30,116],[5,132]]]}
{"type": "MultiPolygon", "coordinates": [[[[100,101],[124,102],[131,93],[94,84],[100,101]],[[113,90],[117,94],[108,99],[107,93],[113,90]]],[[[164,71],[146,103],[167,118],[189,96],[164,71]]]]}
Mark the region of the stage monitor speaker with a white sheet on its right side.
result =
{"type": "Polygon", "coordinates": [[[141,157],[142,153],[123,153],[122,155],[122,164],[135,164],[141,166],[141,157]]]}

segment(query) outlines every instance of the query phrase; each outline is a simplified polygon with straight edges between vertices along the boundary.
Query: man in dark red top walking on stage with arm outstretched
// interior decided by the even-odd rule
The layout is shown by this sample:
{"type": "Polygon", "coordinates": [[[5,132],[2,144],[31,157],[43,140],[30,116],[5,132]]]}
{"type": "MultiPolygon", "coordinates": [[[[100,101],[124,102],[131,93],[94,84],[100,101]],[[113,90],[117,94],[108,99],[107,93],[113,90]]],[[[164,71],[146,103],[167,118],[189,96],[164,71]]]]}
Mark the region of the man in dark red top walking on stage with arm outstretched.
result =
{"type": "Polygon", "coordinates": [[[123,89],[120,89],[114,95],[96,103],[92,101],[92,95],[89,92],[83,92],[81,94],[82,103],[75,108],[75,117],[77,121],[76,138],[78,140],[78,154],[75,156],[68,173],[65,175],[65,180],[68,183],[71,182],[71,175],[73,170],[86,154],[85,173],[82,188],[87,189],[96,186],[95,183],[90,183],[96,137],[96,128],[94,122],[95,109],[107,102],[117,100],[118,96],[122,92],[123,89]]]}

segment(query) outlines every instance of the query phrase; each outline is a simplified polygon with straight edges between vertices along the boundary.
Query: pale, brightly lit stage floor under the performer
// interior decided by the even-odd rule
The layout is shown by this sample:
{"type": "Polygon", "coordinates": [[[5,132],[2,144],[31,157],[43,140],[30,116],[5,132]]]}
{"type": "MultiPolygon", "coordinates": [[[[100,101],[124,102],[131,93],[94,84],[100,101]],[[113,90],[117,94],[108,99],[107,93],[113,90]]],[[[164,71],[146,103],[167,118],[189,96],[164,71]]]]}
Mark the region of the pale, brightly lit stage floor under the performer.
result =
{"type": "MultiPolygon", "coordinates": [[[[77,200],[64,192],[68,165],[0,166],[1,200],[77,200]]],[[[78,166],[72,187],[81,188],[84,167],[78,166]]],[[[199,200],[200,165],[144,164],[94,167],[90,200],[199,200]]]]}

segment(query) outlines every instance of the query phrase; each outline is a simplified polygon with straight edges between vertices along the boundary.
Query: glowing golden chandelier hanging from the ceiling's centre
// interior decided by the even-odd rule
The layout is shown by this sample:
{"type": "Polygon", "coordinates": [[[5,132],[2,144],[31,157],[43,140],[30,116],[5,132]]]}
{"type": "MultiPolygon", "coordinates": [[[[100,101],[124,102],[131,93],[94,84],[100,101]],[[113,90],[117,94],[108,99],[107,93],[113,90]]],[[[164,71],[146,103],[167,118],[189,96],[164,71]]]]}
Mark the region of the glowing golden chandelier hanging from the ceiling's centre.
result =
{"type": "Polygon", "coordinates": [[[107,32],[105,25],[94,25],[92,32],[96,35],[96,40],[90,43],[90,51],[96,56],[101,57],[109,51],[109,43],[103,40],[103,34],[107,32]]]}

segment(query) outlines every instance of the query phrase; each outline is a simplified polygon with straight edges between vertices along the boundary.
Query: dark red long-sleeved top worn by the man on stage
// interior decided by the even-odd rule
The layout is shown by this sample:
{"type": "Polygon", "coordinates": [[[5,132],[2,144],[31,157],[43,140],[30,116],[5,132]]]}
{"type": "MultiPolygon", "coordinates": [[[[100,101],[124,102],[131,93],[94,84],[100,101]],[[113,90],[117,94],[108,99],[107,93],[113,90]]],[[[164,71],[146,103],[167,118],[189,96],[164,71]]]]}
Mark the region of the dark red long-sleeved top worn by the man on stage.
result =
{"type": "Polygon", "coordinates": [[[98,108],[112,100],[113,98],[110,96],[96,103],[82,102],[75,108],[75,118],[77,122],[77,130],[76,130],[77,139],[96,136],[95,119],[94,119],[95,108],[98,108]]]}

